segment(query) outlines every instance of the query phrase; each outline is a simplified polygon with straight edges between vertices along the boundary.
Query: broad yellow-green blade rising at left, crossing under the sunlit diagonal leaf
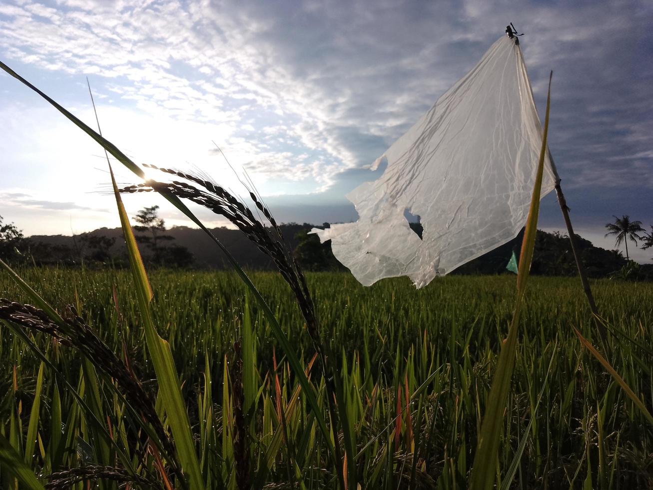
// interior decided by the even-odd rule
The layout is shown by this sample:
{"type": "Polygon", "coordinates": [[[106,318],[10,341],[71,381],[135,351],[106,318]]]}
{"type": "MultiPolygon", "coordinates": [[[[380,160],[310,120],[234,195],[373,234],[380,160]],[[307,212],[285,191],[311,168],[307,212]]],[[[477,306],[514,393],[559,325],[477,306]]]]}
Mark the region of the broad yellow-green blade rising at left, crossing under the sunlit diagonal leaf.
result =
{"type": "Polygon", "coordinates": [[[183,402],[182,389],[174,365],[174,359],[172,358],[170,344],[159,336],[154,327],[150,314],[150,300],[152,298],[150,281],[148,280],[142,258],[138,252],[136,238],[129,224],[125,206],[123,206],[122,200],[120,199],[116,178],[110,165],[109,171],[116,195],[120,223],[123,229],[123,235],[125,236],[125,242],[127,243],[129,265],[136,284],[138,306],[144,324],[148,351],[150,352],[152,365],[157,374],[157,382],[159,383],[163,405],[168,415],[168,423],[172,430],[174,444],[191,490],[201,490],[204,487],[204,479],[200,471],[195,444],[193,444],[191,422],[183,402]]]}

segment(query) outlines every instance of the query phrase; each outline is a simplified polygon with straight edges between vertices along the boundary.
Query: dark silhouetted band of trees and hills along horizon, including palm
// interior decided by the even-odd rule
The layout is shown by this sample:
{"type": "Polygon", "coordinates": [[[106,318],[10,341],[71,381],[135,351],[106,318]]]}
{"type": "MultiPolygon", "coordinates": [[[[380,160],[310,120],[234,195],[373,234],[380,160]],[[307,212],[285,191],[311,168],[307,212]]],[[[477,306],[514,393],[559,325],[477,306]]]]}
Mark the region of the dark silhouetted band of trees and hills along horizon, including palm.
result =
{"type": "MultiPolygon", "coordinates": [[[[159,206],[150,206],[134,216],[135,235],[148,267],[225,269],[228,265],[220,254],[202,240],[202,234],[187,227],[167,229],[159,217],[159,206]]],[[[329,223],[323,223],[328,227],[329,223]]],[[[293,249],[295,257],[306,270],[345,270],[334,257],[330,243],[322,244],[316,235],[309,235],[310,223],[287,223],[281,225],[285,240],[293,249]]],[[[628,215],[614,216],[605,225],[606,237],[615,238],[615,246],[624,245],[626,257],[619,250],[604,250],[577,235],[581,260],[588,276],[622,279],[653,279],[653,264],[639,265],[630,260],[628,241],[646,249],[653,246],[653,225],[646,232],[641,221],[630,220],[628,215]]],[[[411,223],[415,233],[421,233],[419,223],[411,223]]],[[[225,246],[234,250],[238,261],[250,269],[271,269],[272,263],[252,247],[237,230],[218,228],[213,230],[225,246]]],[[[452,272],[453,274],[502,274],[513,253],[520,251],[522,234],[514,240],[474,259],[452,272]]],[[[14,223],[5,223],[0,216],[0,258],[5,261],[31,265],[64,265],[69,267],[125,267],[127,257],[121,246],[119,229],[99,229],[89,233],[64,237],[62,235],[29,237],[14,223]]],[[[532,273],[550,276],[573,276],[575,261],[569,238],[560,233],[538,231],[535,241],[532,273]]]]}

